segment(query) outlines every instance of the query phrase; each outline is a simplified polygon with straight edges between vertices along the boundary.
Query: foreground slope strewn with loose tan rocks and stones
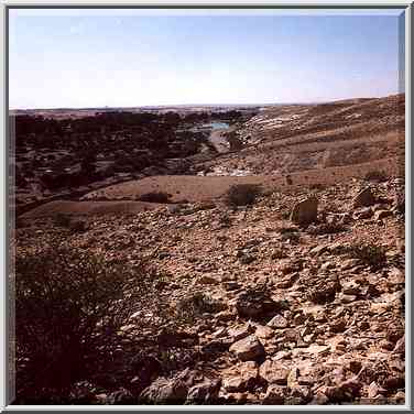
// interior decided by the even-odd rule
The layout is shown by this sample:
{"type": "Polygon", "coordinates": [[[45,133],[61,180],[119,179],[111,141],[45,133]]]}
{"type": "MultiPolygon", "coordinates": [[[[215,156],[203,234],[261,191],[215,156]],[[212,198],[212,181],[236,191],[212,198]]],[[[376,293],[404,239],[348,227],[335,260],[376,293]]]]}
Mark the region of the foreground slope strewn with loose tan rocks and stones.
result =
{"type": "Polygon", "coordinates": [[[28,219],[17,251],[64,235],[108,263],[146,259],[162,275],[148,307],[124,298],[135,312],[110,370],[78,384],[88,403],[403,404],[403,194],[402,178],[349,179],[250,207],[167,205],[66,228],[28,219]],[[290,214],[310,193],[316,220],[298,226],[290,214]],[[356,253],[360,243],[373,252],[356,253]],[[172,328],[150,337],[165,306],[172,328]],[[138,352],[146,364],[131,362],[138,352]]]}

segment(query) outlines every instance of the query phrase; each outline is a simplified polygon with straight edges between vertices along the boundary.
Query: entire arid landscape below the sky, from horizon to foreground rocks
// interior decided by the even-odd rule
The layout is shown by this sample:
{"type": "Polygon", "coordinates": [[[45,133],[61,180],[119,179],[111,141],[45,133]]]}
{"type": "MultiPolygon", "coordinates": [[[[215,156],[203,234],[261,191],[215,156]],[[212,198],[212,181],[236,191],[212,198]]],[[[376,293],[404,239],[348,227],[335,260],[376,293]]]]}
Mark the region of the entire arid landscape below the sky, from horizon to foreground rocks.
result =
{"type": "Polygon", "coordinates": [[[41,115],[17,403],[405,403],[404,95],[41,115]]]}

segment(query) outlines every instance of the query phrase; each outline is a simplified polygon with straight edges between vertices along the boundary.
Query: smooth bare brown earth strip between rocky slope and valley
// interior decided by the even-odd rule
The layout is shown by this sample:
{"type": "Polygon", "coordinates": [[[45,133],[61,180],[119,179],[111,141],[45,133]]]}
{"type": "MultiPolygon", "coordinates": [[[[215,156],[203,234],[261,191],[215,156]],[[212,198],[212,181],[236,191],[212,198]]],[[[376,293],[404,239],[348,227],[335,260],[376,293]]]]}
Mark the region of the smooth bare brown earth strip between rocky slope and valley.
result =
{"type": "Polygon", "coordinates": [[[264,192],[290,190],[315,185],[333,185],[351,178],[363,178],[371,171],[384,171],[389,176],[400,176],[401,167],[397,159],[383,159],[369,163],[352,165],[352,168],[328,167],[323,171],[310,170],[291,174],[292,184],[285,177],[251,175],[244,177],[230,176],[154,176],[139,181],[109,186],[91,192],[81,197],[81,201],[52,201],[34,208],[22,217],[53,216],[62,214],[94,215],[112,214],[112,211],[139,211],[151,208],[151,203],[133,201],[149,193],[170,194],[170,203],[197,203],[220,199],[232,185],[258,184],[264,192]],[[106,201],[105,201],[106,200],[106,201]],[[115,201],[118,200],[118,201],[115,201]],[[88,201],[88,203],[87,203],[88,201]]]}

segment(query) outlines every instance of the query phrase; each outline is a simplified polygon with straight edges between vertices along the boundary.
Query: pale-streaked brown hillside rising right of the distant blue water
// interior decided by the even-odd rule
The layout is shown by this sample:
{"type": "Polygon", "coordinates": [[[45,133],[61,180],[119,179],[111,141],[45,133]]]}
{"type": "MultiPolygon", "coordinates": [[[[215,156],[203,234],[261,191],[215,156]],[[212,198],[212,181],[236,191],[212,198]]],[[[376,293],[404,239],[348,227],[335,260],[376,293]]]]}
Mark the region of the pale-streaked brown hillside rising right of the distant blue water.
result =
{"type": "Polygon", "coordinates": [[[404,171],[404,122],[405,95],[265,107],[237,131],[240,152],[199,167],[280,175],[392,159],[404,171]]]}

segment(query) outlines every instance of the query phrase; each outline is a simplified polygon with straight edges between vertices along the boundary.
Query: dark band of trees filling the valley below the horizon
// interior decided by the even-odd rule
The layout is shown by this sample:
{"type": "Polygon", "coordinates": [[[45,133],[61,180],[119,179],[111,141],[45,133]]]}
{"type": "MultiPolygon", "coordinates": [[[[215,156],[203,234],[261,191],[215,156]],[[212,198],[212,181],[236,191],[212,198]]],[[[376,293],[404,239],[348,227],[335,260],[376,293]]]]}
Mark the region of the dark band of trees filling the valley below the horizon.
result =
{"type": "MultiPolygon", "coordinates": [[[[165,170],[164,160],[184,159],[196,154],[207,142],[204,132],[189,126],[209,120],[235,121],[238,111],[221,113],[177,112],[149,113],[105,111],[77,119],[52,119],[41,116],[11,116],[14,122],[17,184],[29,185],[26,178],[36,176],[51,190],[76,187],[113,176],[116,173],[138,173],[148,167],[165,170]],[[28,156],[28,151],[34,155],[28,156]],[[62,153],[64,151],[64,153],[62,153]],[[97,161],[106,166],[97,168],[97,161]]],[[[184,173],[186,164],[177,166],[184,173]]]]}

